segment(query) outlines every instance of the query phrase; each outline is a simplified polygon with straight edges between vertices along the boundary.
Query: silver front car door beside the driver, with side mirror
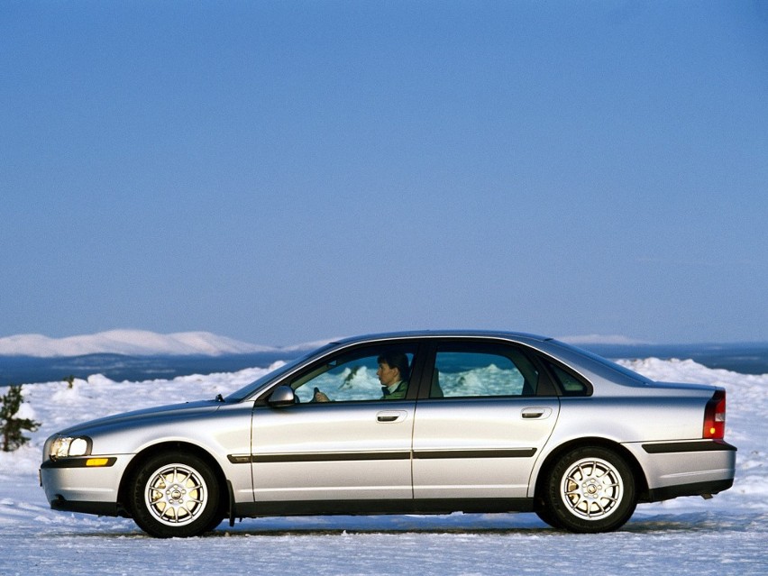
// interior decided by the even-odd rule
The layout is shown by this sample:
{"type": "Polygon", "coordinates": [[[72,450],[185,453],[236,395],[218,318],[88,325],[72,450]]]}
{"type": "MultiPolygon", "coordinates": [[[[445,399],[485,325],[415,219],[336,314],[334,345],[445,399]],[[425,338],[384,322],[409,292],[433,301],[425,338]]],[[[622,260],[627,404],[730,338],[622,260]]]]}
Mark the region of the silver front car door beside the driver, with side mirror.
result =
{"type": "MultiPolygon", "coordinates": [[[[257,502],[413,498],[416,389],[407,389],[406,398],[384,399],[377,378],[380,358],[393,350],[407,359],[403,370],[409,370],[414,345],[366,346],[291,379],[299,403],[270,407],[257,401],[251,433],[257,502]]],[[[406,383],[408,378],[404,374],[406,383]]]]}

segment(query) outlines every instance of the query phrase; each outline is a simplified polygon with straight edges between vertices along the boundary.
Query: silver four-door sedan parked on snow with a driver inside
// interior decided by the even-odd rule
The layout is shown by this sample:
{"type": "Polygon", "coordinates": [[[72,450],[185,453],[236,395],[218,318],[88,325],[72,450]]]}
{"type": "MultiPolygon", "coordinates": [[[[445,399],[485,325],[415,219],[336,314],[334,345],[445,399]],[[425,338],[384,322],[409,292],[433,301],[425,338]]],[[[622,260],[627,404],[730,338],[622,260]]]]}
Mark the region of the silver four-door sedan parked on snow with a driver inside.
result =
{"type": "Polygon", "coordinates": [[[43,448],[56,510],[157,537],[296,515],[535,512],[616,530],[733,485],[726,390],[661,383],[534,334],[328,343],[234,391],[74,425],[43,448]]]}

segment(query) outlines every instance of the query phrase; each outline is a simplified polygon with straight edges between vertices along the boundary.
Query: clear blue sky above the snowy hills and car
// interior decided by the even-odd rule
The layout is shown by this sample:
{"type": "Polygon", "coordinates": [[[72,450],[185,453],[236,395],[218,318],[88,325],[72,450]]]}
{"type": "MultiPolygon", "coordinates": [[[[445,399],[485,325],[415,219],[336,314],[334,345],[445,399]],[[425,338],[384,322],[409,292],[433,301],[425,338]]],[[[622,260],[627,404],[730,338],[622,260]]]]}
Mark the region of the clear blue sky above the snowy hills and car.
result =
{"type": "Polygon", "coordinates": [[[766,341],[766,6],[5,2],[0,336],[766,341]]]}

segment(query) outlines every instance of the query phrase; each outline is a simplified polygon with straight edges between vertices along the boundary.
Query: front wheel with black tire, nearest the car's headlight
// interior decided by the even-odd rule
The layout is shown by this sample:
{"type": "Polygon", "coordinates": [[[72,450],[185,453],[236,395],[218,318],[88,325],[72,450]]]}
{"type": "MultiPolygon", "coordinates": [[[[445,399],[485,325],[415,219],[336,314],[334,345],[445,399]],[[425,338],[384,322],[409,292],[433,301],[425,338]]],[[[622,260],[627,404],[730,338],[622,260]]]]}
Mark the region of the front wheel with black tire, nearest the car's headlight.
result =
{"type": "Polygon", "coordinates": [[[204,534],[222,519],[214,471],[189,453],[160,453],[142,463],[131,492],[133,520],[158,538],[204,534]]]}

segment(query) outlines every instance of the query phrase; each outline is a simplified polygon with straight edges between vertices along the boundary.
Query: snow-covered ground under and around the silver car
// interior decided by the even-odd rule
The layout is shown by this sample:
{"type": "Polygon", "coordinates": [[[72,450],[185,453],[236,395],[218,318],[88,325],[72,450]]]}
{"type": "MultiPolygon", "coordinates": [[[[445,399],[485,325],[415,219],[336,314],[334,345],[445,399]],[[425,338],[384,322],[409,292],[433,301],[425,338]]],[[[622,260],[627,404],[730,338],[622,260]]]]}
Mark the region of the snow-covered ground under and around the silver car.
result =
{"type": "MultiPolygon", "coordinates": [[[[605,535],[557,532],[535,515],[301,517],[244,520],[214,535],[155,540],[123,518],[54,512],[38,485],[45,438],[129,409],[213,398],[265,370],[114,382],[102,376],[23,388],[31,442],[0,453],[0,575],[23,574],[768,574],[768,374],[693,361],[623,361],[652,379],[727,389],[734,488],[711,500],[640,505],[605,535]]],[[[0,394],[5,393],[0,388],[0,394]]]]}

